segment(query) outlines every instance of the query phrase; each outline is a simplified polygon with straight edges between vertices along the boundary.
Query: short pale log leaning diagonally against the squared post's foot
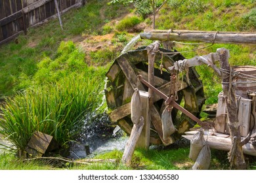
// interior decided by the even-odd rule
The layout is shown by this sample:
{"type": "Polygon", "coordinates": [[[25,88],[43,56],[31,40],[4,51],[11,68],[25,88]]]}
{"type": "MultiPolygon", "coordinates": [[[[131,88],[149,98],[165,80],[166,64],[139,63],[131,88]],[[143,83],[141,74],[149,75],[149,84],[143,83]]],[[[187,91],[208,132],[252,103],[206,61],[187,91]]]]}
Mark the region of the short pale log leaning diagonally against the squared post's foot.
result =
{"type": "Polygon", "coordinates": [[[125,150],[123,152],[123,158],[122,158],[122,162],[125,163],[125,165],[127,166],[131,165],[131,158],[133,156],[133,152],[135,150],[135,146],[140,137],[140,133],[142,131],[143,126],[144,126],[143,117],[140,117],[140,121],[138,124],[133,125],[130,138],[125,145],[125,150]]]}

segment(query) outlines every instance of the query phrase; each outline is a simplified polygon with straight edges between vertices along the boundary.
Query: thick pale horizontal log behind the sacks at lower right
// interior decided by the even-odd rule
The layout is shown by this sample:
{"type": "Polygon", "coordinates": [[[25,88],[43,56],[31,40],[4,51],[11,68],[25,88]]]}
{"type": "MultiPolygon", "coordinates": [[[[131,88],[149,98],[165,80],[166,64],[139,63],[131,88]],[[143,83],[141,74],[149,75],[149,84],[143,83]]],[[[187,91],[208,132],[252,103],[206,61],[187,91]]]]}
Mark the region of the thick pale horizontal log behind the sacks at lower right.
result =
{"type": "MultiPolygon", "coordinates": [[[[191,141],[194,135],[182,135],[182,137],[191,141]]],[[[208,139],[208,144],[211,148],[230,151],[230,148],[232,146],[232,142],[230,138],[216,137],[216,136],[207,137],[207,135],[203,135],[203,137],[204,139],[208,139]]],[[[242,150],[244,154],[256,156],[256,148],[251,143],[247,143],[244,146],[242,146],[242,150]]]]}

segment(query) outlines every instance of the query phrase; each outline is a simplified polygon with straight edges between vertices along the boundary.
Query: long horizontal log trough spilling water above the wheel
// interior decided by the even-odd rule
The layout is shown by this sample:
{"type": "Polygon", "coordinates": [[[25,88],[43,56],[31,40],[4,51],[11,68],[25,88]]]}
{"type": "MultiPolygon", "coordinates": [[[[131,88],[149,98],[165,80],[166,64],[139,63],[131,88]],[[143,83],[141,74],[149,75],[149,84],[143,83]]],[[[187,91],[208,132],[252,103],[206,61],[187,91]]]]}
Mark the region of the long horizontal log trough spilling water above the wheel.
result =
{"type": "Polygon", "coordinates": [[[256,33],[187,31],[187,30],[150,30],[140,33],[141,39],[159,41],[192,41],[230,44],[256,44],[256,33]]]}

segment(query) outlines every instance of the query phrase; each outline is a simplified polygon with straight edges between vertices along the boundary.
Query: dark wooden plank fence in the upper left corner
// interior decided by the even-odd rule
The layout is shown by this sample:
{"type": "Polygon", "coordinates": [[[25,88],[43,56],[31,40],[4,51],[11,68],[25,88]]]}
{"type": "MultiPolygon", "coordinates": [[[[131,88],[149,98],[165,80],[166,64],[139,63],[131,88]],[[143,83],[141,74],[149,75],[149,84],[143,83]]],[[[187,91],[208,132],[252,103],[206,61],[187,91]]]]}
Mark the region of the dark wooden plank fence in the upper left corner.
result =
{"type": "MultiPolygon", "coordinates": [[[[85,0],[57,0],[64,13],[81,7],[85,0]]],[[[46,22],[57,16],[54,0],[0,0],[0,44],[14,39],[28,27],[46,22]]]]}

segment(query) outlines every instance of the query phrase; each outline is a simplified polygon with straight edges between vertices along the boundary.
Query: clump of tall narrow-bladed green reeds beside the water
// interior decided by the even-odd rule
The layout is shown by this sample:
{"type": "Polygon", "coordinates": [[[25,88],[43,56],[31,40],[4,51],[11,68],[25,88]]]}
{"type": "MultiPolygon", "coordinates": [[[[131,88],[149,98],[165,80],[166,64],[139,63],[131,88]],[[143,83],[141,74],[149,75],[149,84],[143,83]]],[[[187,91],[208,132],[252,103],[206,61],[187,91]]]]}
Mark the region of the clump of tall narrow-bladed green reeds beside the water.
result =
{"type": "Polygon", "coordinates": [[[53,135],[60,144],[72,139],[72,128],[102,102],[102,84],[90,77],[68,76],[7,98],[0,107],[0,133],[24,150],[34,131],[53,135]]]}

